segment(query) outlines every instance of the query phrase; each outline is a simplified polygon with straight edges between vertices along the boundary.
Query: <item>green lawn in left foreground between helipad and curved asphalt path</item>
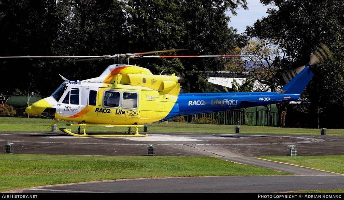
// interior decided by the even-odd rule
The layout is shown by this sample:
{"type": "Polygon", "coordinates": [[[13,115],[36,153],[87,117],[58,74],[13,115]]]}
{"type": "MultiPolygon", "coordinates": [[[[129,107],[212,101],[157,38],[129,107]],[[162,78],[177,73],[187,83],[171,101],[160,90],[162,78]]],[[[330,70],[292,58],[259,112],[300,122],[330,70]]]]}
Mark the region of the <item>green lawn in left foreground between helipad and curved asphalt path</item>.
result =
{"type": "Polygon", "coordinates": [[[291,175],[206,156],[0,154],[0,192],[44,185],[128,178],[291,175]]]}

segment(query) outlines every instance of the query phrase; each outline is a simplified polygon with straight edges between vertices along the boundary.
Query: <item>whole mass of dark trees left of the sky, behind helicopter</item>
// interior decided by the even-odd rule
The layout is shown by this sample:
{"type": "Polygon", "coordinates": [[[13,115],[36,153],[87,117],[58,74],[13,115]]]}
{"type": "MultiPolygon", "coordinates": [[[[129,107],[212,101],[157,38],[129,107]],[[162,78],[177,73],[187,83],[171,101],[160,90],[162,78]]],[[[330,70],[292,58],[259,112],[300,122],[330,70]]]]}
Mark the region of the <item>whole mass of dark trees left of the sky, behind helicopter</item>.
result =
{"type": "MultiPolygon", "coordinates": [[[[1,1],[1,56],[86,56],[195,48],[181,55],[224,55],[245,44],[245,37],[228,27],[230,16],[246,0],[26,0],[1,1]]],[[[165,54],[176,54],[168,52],[165,54]]],[[[1,59],[2,73],[21,91],[50,95],[62,80],[99,76],[113,60],[66,62],[65,59],[1,59]],[[25,73],[13,73],[13,66],[25,73]],[[60,81],[56,81],[60,80],[60,81]],[[49,91],[44,91],[49,89],[49,91]]],[[[132,63],[131,63],[132,62],[132,63]]],[[[188,92],[204,85],[202,71],[215,70],[223,59],[131,59],[153,74],[183,75],[188,92]],[[202,82],[201,82],[202,83],[202,82]]]]}

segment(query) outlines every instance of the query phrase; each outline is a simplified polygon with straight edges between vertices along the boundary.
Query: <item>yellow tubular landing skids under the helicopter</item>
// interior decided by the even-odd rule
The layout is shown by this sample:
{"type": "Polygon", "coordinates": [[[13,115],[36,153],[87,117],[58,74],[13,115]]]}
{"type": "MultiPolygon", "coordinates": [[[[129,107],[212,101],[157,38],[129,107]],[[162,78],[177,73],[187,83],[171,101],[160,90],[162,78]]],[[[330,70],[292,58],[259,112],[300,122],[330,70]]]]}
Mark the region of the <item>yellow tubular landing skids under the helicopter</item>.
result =
{"type": "Polygon", "coordinates": [[[147,134],[140,135],[139,134],[139,127],[143,127],[143,125],[109,125],[109,124],[66,124],[67,126],[78,126],[79,131],[78,133],[73,133],[71,129],[66,129],[66,128],[59,128],[60,131],[68,133],[72,136],[76,137],[146,137],[148,136],[147,134]],[[104,134],[99,134],[99,133],[89,133],[86,134],[86,126],[107,126],[107,127],[129,127],[128,133],[123,134],[123,133],[104,133],[104,134]],[[80,133],[80,127],[84,127],[84,134],[80,133]],[[135,133],[130,132],[130,128],[135,127],[135,133]]]}

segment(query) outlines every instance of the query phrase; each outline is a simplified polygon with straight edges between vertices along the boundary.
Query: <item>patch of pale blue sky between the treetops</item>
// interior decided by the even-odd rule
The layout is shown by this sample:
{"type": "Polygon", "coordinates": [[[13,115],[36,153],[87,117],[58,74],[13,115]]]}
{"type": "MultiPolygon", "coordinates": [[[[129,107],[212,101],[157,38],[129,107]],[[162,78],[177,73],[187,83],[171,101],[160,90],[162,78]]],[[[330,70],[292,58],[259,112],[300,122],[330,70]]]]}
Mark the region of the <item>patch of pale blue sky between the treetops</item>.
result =
{"type": "Polygon", "coordinates": [[[266,11],[271,6],[264,6],[259,0],[247,0],[247,7],[248,10],[244,10],[240,7],[240,9],[237,10],[238,15],[232,16],[230,19],[231,22],[228,24],[236,28],[238,30],[237,33],[244,32],[246,26],[252,26],[257,19],[267,16],[268,14],[266,11]]]}

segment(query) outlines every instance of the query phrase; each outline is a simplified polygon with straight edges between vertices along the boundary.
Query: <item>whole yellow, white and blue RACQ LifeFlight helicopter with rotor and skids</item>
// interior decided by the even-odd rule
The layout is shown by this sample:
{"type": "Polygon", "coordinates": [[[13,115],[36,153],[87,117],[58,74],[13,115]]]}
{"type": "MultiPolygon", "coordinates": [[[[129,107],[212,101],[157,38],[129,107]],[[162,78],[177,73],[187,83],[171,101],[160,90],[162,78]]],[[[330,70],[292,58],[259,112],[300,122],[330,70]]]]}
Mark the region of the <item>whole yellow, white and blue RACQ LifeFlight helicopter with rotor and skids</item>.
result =
{"type": "MultiPolygon", "coordinates": [[[[214,56],[149,56],[147,54],[178,51],[170,49],[136,54],[104,56],[9,56],[0,58],[75,58],[79,60],[117,59],[118,64],[109,65],[99,77],[82,81],[64,82],[49,97],[30,104],[25,112],[60,121],[72,122],[67,126],[78,127],[78,132],[60,128],[62,132],[76,137],[146,137],[139,127],[148,123],[202,113],[234,110],[240,108],[299,101],[300,95],[313,77],[313,65],[309,62],[289,74],[289,82],[278,92],[233,93],[180,93],[181,77],[175,74],[155,75],[147,68],[130,65],[130,58],[172,57],[245,57],[241,55],[214,56]],[[127,61],[127,64],[123,64],[127,61]],[[125,134],[86,133],[88,126],[129,127],[125,134]],[[80,133],[83,127],[83,133],[80,133]],[[135,128],[135,133],[131,132],[135,128]]],[[[51,127],[50,126],[50,127],[51,127]]]]}

